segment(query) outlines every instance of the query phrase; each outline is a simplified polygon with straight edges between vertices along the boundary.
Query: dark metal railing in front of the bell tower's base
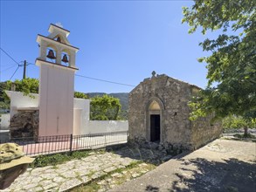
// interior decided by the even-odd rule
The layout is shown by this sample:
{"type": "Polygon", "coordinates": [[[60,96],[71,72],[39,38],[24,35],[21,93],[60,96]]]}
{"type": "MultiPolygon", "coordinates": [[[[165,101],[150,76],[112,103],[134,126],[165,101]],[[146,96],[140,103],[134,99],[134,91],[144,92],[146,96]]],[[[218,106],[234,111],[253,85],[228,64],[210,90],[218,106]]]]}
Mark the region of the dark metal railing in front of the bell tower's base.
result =
{"type": "Polygon", "coordinates": [[[5,142],[15,142],[23,147],[24,154],[35,156],[38,154],[55,154],[60,152],[72,152],[82,149],[94,149],[107,147],[116,144],[126,143],[128,132],[111,132],[102,134],[82,134],[82,135],[53,135],[40,136],[38,138],[26,137],[15,138],[5,142]]]}

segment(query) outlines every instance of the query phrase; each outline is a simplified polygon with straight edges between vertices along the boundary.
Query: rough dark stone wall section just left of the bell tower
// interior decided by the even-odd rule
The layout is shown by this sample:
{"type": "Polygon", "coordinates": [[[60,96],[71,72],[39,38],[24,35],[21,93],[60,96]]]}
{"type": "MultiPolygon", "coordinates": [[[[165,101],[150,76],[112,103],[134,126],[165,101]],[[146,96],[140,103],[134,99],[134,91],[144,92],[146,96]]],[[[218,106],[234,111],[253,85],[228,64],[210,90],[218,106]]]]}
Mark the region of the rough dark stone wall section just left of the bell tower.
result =
{"type": "Polygon", "coordinates": [[[32,137],[37,140],[39,111],[19,111],[10,119],[10,139],[32,137]]]}

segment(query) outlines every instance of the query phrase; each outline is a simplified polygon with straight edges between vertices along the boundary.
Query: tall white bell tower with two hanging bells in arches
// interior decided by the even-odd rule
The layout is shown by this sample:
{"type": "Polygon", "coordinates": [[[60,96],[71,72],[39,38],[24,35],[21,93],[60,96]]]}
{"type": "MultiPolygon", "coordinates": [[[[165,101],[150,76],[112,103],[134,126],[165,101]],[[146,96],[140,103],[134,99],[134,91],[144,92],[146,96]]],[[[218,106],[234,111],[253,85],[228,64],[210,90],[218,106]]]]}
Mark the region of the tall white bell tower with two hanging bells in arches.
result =
{"type": "Polygon", "coordinates": [[[79,48],[70,45],[70,31],[50,24],[50,34],[38,35],[39,136],[73,134],[73,86],[75,56],[79,48]]]}

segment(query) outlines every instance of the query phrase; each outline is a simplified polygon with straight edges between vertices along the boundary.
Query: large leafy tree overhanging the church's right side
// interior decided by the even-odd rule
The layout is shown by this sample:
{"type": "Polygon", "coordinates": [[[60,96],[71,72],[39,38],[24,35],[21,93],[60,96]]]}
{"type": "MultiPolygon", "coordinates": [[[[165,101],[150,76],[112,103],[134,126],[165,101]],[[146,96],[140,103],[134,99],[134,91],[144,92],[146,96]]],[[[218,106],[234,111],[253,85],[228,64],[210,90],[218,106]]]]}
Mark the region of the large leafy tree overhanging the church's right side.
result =
{"type": "MultiPolygon", "coordinates": [[[[256,1],[197,0],[183,8],[183,23],[190,33],[217,31],[218,38],[200,43],[209,57],[199,58],[208,70],[208,86],[190,102],[190,119],[208,113],[215,118],[256,118],[256,1]]],[[[246,127],[245,127],[246,134],[246,127]]]]}

